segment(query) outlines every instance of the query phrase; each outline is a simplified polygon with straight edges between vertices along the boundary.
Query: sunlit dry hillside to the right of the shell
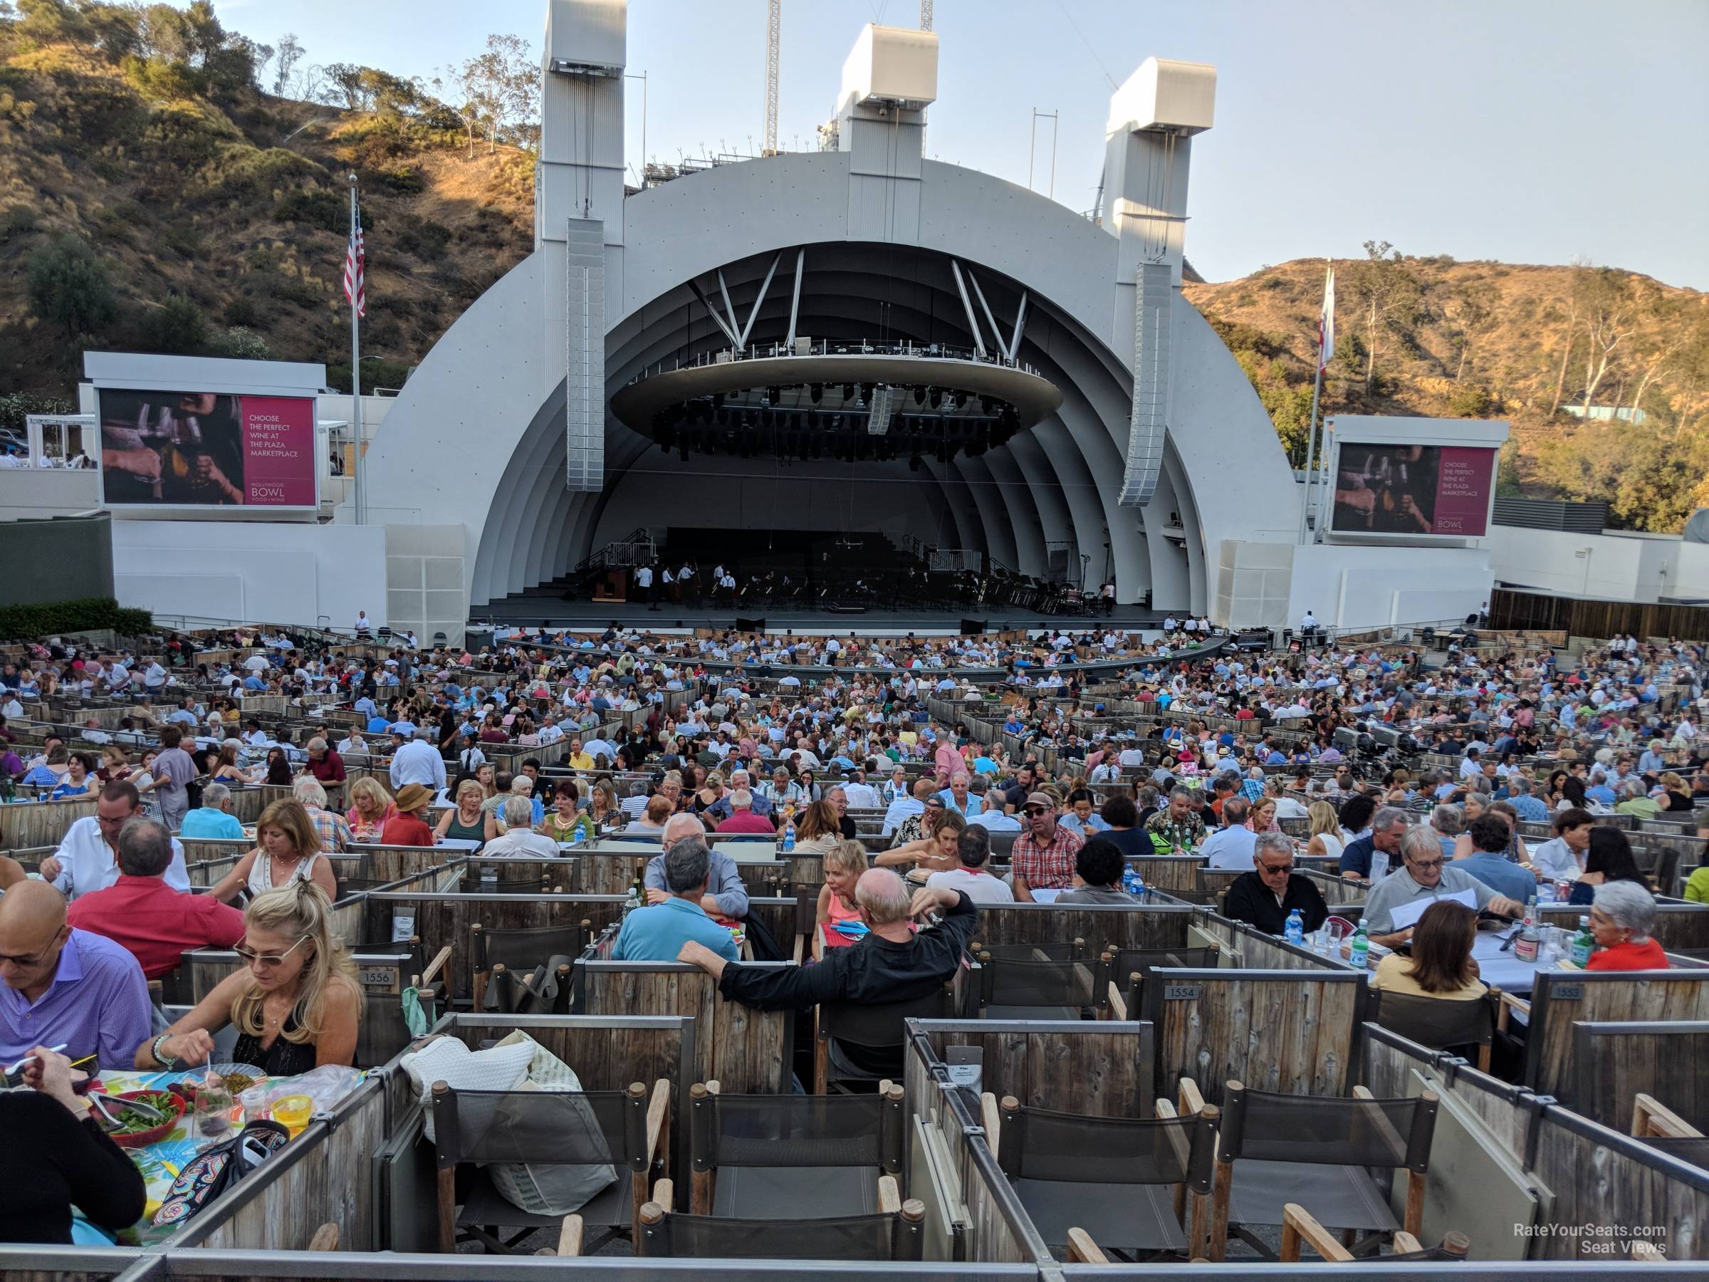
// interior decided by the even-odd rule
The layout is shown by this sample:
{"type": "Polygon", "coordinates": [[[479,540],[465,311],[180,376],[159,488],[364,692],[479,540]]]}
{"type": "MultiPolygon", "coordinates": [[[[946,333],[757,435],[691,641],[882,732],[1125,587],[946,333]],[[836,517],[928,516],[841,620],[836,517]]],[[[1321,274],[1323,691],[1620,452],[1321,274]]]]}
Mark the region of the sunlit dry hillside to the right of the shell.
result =
{"type": "MultiPolygon", "coordinates": [[[[1323,275],[1323,260],[1295,260],[1184,287],[1246,368],[1295,463],[1304,463],[1323,275]]],[[[1709,503],[1704,294],[1612,268],[1393,253],[1336,260],[1335,275],[1324,414],[1507,419],[1509,492],[1606,499],[1613,520],[1632,528],[1678,530],[1709,503]],[[1583,405],[1586,388],[1589,405],[1622,415],[1636,405],[1642,422],[1572,417],[1567,407],[1583,405]]]]}

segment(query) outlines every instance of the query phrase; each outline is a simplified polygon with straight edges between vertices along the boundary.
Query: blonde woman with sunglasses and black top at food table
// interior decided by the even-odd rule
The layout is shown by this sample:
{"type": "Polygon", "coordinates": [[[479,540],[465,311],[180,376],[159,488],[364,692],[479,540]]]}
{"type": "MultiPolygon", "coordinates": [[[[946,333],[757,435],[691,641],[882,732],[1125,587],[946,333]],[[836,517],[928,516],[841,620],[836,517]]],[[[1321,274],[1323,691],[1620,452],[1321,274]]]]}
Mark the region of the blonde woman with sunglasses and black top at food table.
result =
{"type": "Polygon", "coordinates": [[[244,913],[238,956],[195,1010],[137,1048],[138,1068],[197,1068],[214,1034],[238,1029],[236,1063],[292,1077],[323,1063],[349,1065],[362,1017],[355,962],[332,933],[332,903],[314,882],[268,891],[244,913]]]}

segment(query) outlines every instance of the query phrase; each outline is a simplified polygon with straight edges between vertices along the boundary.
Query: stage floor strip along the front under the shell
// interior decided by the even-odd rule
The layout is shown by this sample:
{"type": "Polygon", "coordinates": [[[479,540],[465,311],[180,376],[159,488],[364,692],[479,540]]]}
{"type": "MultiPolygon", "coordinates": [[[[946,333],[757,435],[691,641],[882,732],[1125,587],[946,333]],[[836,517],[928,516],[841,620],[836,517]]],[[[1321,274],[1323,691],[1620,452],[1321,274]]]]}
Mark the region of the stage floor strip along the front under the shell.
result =
{"type": "MultiPolygon", "coordinates": [[[[978,617],[984,622],[988,631],[1008,631],[1015,627],[1044,627],[1044,629],[1063,629],[1063,631],[1084,631],[1089,627],[1104,627],[1113,624],[1116,627],[1126,629],[1159,629],[1167,612],[1147,610],[1140,605],[1118,605],[1114,614],[1106,620],[1104,615],[1085,617],[1085,615],[1063,615],[1063,614],[1034,614],[1031,610],[1005,610],[1001,614],[983,614],[967,615],[955,610],[866,610],[863,614],[843,614],[829,610],[774,610],[762,614],[766,620],[767,632],[783,632],[793,629],[805,634],[831,634],[846,636],[849,632],[863,636],[899,636],[902,632],[918,634],[948,634],[955,636],[960,632],[962,619],[978,617]]],[[[742,612],[742,617],[754,617],[742,612]]],[[[726,610],[721,607],[702,605],[699,609],[685,609],[680,605],[661,603],[656,610],[649,610],[641,602],[590,602],[574,600],[566,602],[557,597],[530,597],[518,593],[508,597],[501,602],[492,602],[479,610],[472,612],[470,626],[480,627],[482,624],[502,624],[502,626],[526,626],[537,627],[545,624],[547,627],[559,629],[569,627],[573,631],[603,629],[607,624],[615,622],[627,627],[653,627],[658,631],[692,631],[697,627],[728,629],[733,627],[737,620],[735,610],[726,610]]]]}

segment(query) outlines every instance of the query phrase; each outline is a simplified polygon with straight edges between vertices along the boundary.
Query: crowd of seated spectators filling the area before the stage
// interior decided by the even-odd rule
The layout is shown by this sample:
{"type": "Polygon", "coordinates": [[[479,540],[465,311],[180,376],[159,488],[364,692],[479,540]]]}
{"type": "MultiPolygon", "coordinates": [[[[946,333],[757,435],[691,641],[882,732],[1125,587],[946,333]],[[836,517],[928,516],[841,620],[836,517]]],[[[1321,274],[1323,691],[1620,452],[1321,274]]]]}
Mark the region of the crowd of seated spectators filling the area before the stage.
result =
{"type": "MultiPolygon", "coordinates": [[[[1379,985],[1458,998],[1477,978],[1466,921],[1519,916],[1545,884],[1586,906],[1593,967],[1666,964],[1629,838],[1596,820],[1709,798],[1700,648],[1625,638],[1571,670],[1470,646],[1442,662],[1395,646],[1196,655],[1196,629],[1007,643],[610,627],[479,651],[239,639],[258,644],[226,663],[176,641],[145,658],[43,643],[0,668],[15,803],[94,800],[39,880],[0,860],[0,1058],[65,1043],[101,1067],[190,1067],[234,1026],[238,1058],[268,1072],[349,1063],[361,991],[328,925],[328,855],[460,841],[552,856],[614,831],[660,850],[614,956],[680,956],[757,1007],[925,993],[979,906],[1133,903],[1126,860],[1171,853],[1241,873],[1224,911],[1270,933],[1294,909],[1306,930],[1324,921],[1297,862],[1338,860],[1369,887],[1372,942],[1410,949],[1379,985]],[[63,694],[123,716],[17,750],[7,723],[63,694]],[[287,711],[263,725],[243,711],[251,694],[287,711]],[[250,829],[234,797],[261,785],[289,795],[250,829]],[[885,850],[854,839],[856,815],[885,850]],[[1521,824],[1542,822],[1553,836],[1526,841],[1521,824]],[[824,856],[815,966],[735,964],[749,892],[711,843],[726,834],[824,856]],[[253,844],[191,894],[183,839],[220,838],[253,844]],[[1475,911],[1441,899],[1453,892],[1475,911]],[[1396,926],[1418,901],[1441,903],[1396,926]],[[938,930],[916,933],[921,914],[938,930]],[[157,1027],[145,981],[205,944],[248,966],[157,1027]]],[[[1700,875],[1685,889],[1709,897],[1700,875]]],[[[44,1063],[48,1091],[60,1067],[44,1063]]]]}

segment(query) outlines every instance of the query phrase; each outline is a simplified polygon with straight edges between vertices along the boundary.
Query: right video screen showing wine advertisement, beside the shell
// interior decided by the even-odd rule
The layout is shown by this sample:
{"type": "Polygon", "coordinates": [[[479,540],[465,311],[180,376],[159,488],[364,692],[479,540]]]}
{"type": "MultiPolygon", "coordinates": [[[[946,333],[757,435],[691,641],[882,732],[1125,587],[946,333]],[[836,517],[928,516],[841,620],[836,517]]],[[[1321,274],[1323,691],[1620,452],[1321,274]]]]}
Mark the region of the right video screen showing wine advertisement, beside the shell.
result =
{"type": "Polygon", "coordinates": [[[1342,443],[1335,533],[1480,537],[1489,528],[1495,450],[1342,443]]]}

